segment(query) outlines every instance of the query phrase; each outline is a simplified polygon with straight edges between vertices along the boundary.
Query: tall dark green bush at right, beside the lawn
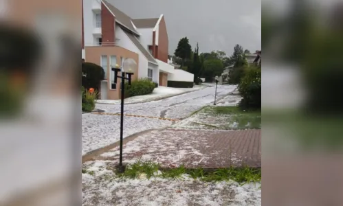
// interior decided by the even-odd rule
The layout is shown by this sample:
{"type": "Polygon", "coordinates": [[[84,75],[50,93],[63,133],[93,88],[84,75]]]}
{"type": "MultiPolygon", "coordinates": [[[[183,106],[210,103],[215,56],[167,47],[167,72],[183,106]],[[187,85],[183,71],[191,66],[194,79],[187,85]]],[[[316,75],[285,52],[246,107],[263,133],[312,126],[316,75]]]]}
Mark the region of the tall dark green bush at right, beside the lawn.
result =
{"type": "Polygon", "coordinates": [[[244,109],[261,108],[261,68],[250,67],[239,83],[242,100],[239,104],[244,109]]]}

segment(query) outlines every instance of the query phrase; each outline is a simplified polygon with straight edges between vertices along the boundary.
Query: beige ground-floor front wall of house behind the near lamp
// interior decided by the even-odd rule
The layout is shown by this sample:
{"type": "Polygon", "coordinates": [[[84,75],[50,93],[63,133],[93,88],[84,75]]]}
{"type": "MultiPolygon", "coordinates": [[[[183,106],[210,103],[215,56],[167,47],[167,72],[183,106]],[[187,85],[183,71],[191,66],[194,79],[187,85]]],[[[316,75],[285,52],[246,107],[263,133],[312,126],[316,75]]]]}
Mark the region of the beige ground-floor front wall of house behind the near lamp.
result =
{"type": "MultiPolygon", "coordinates": [[[[124,58],[133,58],[137,64],[139,64],[139,57],[138,54],[129,51],[128,49],[124,49],[122,47],[86,47],[86,59],[87,62],[92,62],[97,65],[101,65],[101,56],[107,55],[107,99],[108,100],[118,100],[120,98],[120,80],[118,79],[118,86],[117,89],[109,89],[111,88],[111,80],[109,80],[109,73],[111,71],[110,68],[110,56],[116,56],[117,64],[121,65],[121,57],[124,58]]],[[[138,70],[139,73],[139,70],[138,70]]],[[[137,80],[137,75],[133,74],[133,80],[137,80]]],[[[101,91],[100,91],[101,92],[101,91]]]]}

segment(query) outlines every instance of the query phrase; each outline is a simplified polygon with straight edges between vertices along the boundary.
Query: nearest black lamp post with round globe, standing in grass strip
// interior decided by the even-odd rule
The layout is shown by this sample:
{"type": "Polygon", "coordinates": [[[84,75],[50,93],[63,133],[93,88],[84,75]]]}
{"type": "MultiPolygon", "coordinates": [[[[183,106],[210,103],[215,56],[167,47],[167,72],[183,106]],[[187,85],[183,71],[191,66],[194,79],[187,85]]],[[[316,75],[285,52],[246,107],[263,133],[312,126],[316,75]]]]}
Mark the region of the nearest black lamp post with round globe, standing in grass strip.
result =
{"type": "Polygon", "coordinates": [[[120,108],[120,156],[119,156],[119,165],[117,166],[117,171],[119,173],[122,173],[125,171],[125,165],[122,164],[122,141],[123,141],[123,127],[124,127],[124,83],[125,83],[125,80],[128,80],[128,83],[129,85],[131,85],[131,78],[132,78],[132,75],[133,75],[133,72],[132,72],[132,69],[131,67],[132,66],[135,66],[133,65],[135,64],[135,60],[133,59],[126,59],[124,61],[124,64],[123,64],[123,67],[124,68],[121,68],[118,66],[118,65],[115,65],[114,68],[111,68],[112,71],[114,71],[114,82],[115,84],[117,83],[117,80],[118,78],[120,78],[121,80],[121,108],[120,108]],[[126,71],[126,68],[125,67],[129,67],[128,69],[128,72],[125,72],[126,71]],[[121,72],[121,76],[118,76],[118,72],[121,72]]]}

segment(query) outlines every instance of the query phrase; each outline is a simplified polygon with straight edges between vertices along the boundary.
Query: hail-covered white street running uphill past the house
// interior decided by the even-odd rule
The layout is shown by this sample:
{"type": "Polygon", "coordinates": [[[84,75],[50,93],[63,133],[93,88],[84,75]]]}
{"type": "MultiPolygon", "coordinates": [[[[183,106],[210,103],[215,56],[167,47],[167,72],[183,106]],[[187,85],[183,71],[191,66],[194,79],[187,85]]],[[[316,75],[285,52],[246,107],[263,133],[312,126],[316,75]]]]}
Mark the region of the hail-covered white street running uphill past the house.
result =
{"type": "MultiPolygon", "coordinates": [[[[236,86],[233,85],[218,85],[217,100],[228,96],[235,88],[236,86]]],[[[214,89],[215,87],[207,87],[155,102],[125,105],[125,114],[144,117],[124,117],[124,138],[144,130],[164,128],[175,123],[156,117],[183,119],[199,108],[213,104],[214,89]]],[[[120,139],[120,116],[115,115],[120,113],[120,105],[97,104],[96,108],[104,110],[108,115],[91,113],[82,115],[82,155],[120,139]]]]}

